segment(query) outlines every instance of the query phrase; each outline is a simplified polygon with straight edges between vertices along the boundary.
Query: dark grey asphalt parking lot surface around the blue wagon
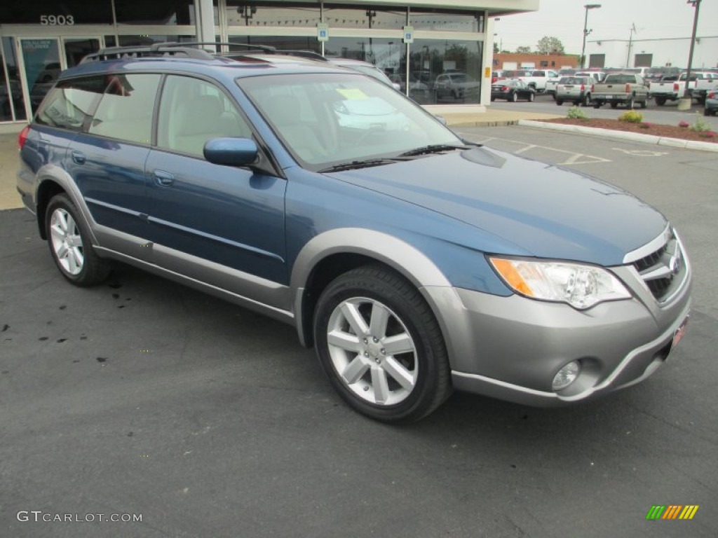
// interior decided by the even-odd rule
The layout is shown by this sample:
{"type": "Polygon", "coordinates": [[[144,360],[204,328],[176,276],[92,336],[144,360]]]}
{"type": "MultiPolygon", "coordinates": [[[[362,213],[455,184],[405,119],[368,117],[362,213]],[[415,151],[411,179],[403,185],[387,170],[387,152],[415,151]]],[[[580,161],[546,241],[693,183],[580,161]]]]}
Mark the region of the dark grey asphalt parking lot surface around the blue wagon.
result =
{"type": "Polygon", "coordinates": [[[291,327],[123,265],[75,288],[32,215],[4,211],[0,535],[716,536],[718,156],[457,131],[617,184],[678,227],[691,323],[651,379],[549,410],[455,394],[421,423],[382,425],[342,403],[291,327]],[[656,504],[699,509],[647,521],[656,504]],[[74,519],[19,516],[32,511],[74,519]]]}

